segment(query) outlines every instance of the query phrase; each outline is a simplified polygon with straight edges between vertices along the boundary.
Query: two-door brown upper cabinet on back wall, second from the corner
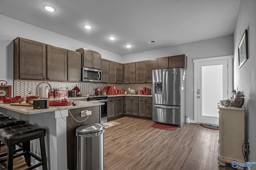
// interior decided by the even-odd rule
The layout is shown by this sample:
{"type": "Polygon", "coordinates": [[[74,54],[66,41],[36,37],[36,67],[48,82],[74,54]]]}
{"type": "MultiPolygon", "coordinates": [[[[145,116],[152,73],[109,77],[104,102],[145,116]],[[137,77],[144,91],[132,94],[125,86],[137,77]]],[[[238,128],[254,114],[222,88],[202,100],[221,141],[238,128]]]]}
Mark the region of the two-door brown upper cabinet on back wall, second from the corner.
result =
{"type": "Polygon", "coordinates": [[[156,59],[136,62],[136,83],[152,82],[154,69],[156,69],[156,59]]]}

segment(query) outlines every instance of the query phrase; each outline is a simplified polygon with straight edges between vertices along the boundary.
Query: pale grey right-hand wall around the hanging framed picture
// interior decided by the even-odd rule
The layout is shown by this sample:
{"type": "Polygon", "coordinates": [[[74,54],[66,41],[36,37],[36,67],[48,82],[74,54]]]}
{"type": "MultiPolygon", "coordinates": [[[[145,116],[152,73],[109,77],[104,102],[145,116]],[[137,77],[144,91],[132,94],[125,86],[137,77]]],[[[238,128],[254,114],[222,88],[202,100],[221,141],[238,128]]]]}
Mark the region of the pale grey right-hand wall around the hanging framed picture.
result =
{"type": "MultiPolygon", "coordinates": [[[[245,95],[245,142],[250,139],[250,154],[248,161],[256,162],[256,1],[241,0],[234,31],[234,89],[245,95]],[[238,45],[244,33],[248,30],[248,61],[238,68],[238,45]]],[[[251,170],[256,169],[252,165],[251,170]]]]}

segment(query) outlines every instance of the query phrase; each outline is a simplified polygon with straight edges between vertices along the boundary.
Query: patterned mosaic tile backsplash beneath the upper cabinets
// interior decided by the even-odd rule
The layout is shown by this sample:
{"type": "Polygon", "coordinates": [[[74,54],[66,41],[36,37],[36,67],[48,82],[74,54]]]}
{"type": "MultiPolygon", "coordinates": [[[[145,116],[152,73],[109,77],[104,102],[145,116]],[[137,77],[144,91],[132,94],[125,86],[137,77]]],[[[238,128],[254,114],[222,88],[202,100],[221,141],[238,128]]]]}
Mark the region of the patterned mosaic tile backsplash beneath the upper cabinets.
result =
{"type": "MultiPolygon", "coordinates": [[[[34,80],[14,80],[14,96],[22,96],[25,97],[31,92],[32,95],[36,95],[36,86],[38,83],[44,81],[34,81],[34,80]]],[[[136,90],[138,93],[143,87],[149,88],[149,92],[152,90],[152,83],[142,83],[142,84],[107,84],[107,83],[90,83],[90,82],[48,82],[52,88],[67,88],[68,90],[72,90],[74,87],[78,86],[81,90],[80,94],[95,94],[95,89],[108,86],[116,86],[118,90],[124,90],[129,94],[128,88],[136,90]]],[[[48,86],[46,83],[42,83],[39,85],[39,95],[42,97],[44,94],[45,87],[48,86]]]]}

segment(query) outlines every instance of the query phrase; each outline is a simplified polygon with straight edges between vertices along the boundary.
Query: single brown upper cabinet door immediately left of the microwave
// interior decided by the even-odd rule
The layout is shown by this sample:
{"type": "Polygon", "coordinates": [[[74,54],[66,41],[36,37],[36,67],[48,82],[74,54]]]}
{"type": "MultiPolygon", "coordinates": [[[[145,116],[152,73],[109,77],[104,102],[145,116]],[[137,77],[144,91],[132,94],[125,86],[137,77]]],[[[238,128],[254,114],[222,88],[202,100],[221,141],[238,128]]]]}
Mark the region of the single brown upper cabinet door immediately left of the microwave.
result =
{"type": "Polygon", "coordinates": [[[81,53],[68,50],[68,81],[81,80],[81,53]]]}

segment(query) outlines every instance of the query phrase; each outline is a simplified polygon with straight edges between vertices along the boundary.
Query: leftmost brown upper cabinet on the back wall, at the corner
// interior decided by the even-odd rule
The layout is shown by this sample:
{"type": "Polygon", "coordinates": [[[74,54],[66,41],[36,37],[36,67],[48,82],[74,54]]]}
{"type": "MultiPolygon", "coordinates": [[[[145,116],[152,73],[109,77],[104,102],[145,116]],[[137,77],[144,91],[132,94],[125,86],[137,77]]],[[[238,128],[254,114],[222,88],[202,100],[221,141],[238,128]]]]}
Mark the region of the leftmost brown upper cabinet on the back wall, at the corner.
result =
{"type": "Polygon", "coordinates": [[[124,74],[123,74],[123,83],[131,84],[136,83],[136,63],[126,63],[123,64],[124,74]]]}

